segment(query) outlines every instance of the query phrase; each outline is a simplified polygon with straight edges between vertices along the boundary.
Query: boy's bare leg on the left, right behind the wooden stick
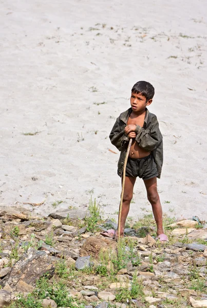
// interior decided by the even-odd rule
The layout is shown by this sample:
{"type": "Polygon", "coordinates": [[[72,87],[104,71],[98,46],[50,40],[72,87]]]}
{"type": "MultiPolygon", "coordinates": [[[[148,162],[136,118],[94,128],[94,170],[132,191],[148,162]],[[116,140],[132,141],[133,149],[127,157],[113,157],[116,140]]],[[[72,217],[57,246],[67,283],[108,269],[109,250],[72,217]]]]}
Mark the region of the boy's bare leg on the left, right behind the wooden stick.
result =
{"type": "MultiPolygon", "coordinates": [[[[121,213],[121,226],[120,226],[121,237],[124,235],[124,226],[125,226],[126,218],[127,218],[129,207],[130,207],[130,202],[131,202],[131,199],[133,198],[133,188],[134,188],[135,182],[136,182],[136,178],[133,178],[133,177],[125,178],[122,213],[121,213]]],[[[118,231],[116,232],[116,235],[118,236],[118,231]]]]}

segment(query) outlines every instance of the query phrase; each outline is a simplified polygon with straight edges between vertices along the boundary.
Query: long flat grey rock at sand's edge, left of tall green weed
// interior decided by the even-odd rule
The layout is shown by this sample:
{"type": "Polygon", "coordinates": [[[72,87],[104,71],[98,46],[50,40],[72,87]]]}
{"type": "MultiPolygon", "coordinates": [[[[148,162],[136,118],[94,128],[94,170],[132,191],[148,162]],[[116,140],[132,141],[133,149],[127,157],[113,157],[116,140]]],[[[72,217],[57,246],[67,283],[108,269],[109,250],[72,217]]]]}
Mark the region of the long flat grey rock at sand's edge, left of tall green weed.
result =
{"type": "Polygon", "coordinates": [[[78,208],[78,209],[62,209],[57,210],[53,213],[49,214],[49,217],[55,219],[84,219],[86,216],[89,215],[89,211],[85,208],[78,208]]]}

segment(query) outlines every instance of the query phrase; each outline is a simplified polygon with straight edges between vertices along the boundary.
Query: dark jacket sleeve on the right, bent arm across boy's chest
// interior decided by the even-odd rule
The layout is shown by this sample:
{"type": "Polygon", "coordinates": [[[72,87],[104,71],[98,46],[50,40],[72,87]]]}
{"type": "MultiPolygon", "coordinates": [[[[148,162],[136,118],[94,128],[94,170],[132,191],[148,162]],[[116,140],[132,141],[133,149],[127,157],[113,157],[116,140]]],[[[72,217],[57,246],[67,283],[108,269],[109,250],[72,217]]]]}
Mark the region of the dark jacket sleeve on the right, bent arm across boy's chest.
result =
{"type": "Polygon", "coordinates": [[[135,132],[137,133],[136,141],[138,145],[146,151],[153,151],[162,141],[162,134],[159,129],[157,118],[149,126],[149,129],[144,129],[137,125],[135,132]]]}

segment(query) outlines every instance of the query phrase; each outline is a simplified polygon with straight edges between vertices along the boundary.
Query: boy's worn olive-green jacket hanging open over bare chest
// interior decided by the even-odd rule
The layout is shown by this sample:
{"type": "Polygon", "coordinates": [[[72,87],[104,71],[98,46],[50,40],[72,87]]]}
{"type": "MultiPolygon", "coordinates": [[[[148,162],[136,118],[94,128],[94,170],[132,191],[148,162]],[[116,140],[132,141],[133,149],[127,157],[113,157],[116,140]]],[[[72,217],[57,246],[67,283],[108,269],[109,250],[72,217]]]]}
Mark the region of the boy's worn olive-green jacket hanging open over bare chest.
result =
{"type": "MultiPolygon", "coordinates": [[[[128,136],[124,132],[124,128],[127,126],[127,121],[131,111],[132,109],[129,108],[120,114],[109,134],[111,143],[114,144],[119,151],[121,151],[118,162],[118,175],[120,177],[123,173],[124,160],[129,141],[128,136]]],[[[142,149],[152,153],[157,165],[157,177],[160,178],[163,164],[163,143],[162,134],[159,129],[159,123],[156,115],[150,113],[146,108],[144,125],[143,127],[137,125],[135,132],[137,133],[136,141],[138,145],[142,149]]]]}

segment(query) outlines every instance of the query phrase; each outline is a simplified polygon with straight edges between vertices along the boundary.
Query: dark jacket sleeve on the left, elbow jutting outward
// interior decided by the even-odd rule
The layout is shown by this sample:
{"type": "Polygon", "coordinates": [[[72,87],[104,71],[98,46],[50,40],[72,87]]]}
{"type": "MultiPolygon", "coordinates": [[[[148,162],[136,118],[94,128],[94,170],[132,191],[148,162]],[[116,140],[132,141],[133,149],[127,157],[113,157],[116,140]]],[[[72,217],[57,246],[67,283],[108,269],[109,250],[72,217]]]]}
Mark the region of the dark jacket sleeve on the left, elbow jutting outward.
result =
{"type": "Polygon", "coordinates": [[[125,134],[123,124],[121,125],[120,121],[120,118],[117,118],[109,134],[111,143],[115,145],[119,151],[121,151],[123,144],[128,141],[128,136],[125,134]]]}

